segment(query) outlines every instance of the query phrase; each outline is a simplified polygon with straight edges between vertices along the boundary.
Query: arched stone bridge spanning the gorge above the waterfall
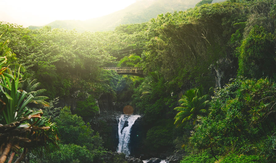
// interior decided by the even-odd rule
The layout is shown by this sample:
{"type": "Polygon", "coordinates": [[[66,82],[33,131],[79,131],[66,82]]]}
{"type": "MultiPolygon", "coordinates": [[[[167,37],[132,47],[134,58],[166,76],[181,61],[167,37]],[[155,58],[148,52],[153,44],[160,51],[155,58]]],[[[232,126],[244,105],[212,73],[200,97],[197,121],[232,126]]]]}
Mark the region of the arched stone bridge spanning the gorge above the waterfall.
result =
{"type": "Polygon", "coordinates": [[[118,74],[134,75],[144,78],[142,67],[102,67],[104,70],[114,70],[118,74]]]}

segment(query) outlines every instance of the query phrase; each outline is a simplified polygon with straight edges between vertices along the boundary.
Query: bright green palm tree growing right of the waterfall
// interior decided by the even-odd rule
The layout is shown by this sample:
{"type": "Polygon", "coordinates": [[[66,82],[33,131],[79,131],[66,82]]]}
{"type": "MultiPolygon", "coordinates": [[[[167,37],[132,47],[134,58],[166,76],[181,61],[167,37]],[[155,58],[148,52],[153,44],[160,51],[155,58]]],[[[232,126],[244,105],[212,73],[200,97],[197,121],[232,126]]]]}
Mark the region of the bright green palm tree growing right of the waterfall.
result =
{"type": "Polygon", "coordinates": [[[178,113],[174,117],[174,124],[180,124],[193,120],[196,123],[198,116],[206,116],[209,108],[208,94],[203,94],[203,87],[190,89],[179,100],[180,107],[174,108],[178,113]]]}

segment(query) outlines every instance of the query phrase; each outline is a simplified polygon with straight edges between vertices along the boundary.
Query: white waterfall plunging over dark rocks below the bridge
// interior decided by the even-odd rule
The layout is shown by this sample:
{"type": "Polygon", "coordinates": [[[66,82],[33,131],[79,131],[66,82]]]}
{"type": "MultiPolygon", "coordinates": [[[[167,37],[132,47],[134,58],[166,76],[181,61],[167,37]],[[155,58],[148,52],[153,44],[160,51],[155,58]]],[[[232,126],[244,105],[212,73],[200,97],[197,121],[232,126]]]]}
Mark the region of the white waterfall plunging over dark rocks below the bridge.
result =
{"type": "Polygon", "coordinates": [[[126,156],[130,154],[130,150],[128,147],[130,141],[130,131],[131,127],[138,119],[139,115],[125,115],[122,114],[119,118],[118,124],[118,134],[119,134],[119,144],[117,148],[118,153],[124,153],[126,156]]]}

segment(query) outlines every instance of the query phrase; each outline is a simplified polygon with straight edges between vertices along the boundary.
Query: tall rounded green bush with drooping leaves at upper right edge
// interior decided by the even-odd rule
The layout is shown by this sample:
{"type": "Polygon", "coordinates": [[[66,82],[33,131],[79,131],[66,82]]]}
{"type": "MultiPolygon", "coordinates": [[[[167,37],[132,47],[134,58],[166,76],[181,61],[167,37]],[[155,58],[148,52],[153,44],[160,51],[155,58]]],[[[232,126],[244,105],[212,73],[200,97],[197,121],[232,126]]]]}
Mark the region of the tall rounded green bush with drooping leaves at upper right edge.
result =
{"type": "Polygon", "coordinates": [[[276,72],[275,36],[255,25],[240,46],[239,75],[249,78],[270,76],[276,72]]]}

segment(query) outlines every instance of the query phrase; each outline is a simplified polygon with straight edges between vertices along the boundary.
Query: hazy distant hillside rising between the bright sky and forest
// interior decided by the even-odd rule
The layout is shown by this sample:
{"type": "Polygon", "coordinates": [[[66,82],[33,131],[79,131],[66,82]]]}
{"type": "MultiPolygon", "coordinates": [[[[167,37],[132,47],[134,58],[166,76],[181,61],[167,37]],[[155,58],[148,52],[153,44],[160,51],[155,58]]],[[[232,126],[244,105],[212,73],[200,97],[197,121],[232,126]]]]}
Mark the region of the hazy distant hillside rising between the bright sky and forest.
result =
{"type": "MultiPolygon", "coordinates": [[[[93,18],[86,21],[78,20],[57,20],[46,26],[52,28],[76,29],[78,32],[84,31],[107,31],[113,30],[120,24],[134,24],[149,21],[157,15],[167,12],[183,11],[193,8],[201,0],[137,0],[132,5],[120,11],[93,18]]],[[[29,28],[41,28],[43,26],[29,26],[29,28]]]]}

